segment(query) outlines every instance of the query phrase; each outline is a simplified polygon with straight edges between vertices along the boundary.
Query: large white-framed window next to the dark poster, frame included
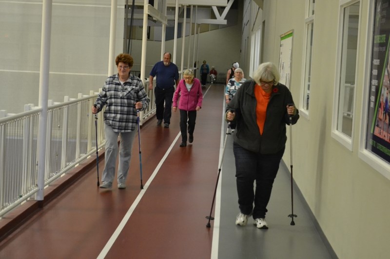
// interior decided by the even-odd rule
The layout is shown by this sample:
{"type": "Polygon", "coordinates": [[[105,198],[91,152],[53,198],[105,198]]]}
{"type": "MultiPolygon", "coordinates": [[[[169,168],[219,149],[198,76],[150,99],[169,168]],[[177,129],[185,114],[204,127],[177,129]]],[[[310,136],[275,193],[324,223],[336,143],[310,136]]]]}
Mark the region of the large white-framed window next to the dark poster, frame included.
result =
{"type": "Polygon", "coordinates": [[[332,134],[350,150],[354,119],[355,76],[360,2],[341,5],[332,134]]]}

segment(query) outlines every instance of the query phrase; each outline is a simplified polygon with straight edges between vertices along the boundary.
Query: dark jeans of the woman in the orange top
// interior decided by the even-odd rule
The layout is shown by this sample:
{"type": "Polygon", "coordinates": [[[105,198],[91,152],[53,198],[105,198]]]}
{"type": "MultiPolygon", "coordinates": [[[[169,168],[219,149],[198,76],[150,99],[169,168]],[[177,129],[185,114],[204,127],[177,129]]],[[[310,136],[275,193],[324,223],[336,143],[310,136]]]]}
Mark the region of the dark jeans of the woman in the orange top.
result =
{"type": "Polygon", "coordinates": [[[263,155],[233,144],[238,205],[241,213],[265,218],[273,181],[279,169],[284,148],[276,154],[263,155]],[[254,181],[256,189],[254,191],[254,181]],[[254,204],[254,207],[253,207],[254,204]]]}

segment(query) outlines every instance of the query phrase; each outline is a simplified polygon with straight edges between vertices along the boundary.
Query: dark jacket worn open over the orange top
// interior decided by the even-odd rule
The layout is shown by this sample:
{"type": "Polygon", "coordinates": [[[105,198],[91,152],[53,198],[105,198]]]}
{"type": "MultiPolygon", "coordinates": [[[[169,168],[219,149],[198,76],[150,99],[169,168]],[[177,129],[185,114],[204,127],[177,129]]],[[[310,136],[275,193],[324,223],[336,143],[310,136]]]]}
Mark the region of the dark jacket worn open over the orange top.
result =
{"type": "MultiPolygon", "coordinates": [[[[275,154],[285,147],[286,124],[290,124],[287,113],[287,104],[293,104],[292,95],[287,86],[278,84],[273,86],[270,102],[267,105],[266,120],[263,134],[260,135],[256,121],[256,97],[254,96],[254,80],[248,80],[241,85],[226,112],[235,112],[232,125],[234,142],[241,147],[261,154],[275,154]]],[[[299,119],[298,110],[292,116],[292,124],[299,119]]]]}

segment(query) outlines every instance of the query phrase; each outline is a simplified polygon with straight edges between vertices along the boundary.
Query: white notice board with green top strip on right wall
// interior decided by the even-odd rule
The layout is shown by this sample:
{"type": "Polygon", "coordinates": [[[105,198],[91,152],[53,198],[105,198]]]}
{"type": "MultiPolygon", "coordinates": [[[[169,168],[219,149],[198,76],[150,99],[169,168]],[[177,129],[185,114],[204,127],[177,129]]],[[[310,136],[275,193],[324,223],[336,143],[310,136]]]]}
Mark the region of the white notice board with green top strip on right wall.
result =
{"type": "Polygon", "coordinates": [[[279,82],[290,89],[290,75],[291,75],[291,55],[292,55],[292,34],[289,31],[280,35],[280,54],[279,54],[279,82]]]}

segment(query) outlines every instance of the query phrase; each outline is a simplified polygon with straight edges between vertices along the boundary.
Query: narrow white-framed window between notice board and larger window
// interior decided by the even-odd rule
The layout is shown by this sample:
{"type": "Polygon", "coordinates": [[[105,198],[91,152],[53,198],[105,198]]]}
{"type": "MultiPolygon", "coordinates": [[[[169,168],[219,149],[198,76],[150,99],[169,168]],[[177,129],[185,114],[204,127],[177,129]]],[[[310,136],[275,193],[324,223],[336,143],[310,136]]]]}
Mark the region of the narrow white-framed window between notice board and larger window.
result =
{"type": "Polygon", "coordinates": [[[305,19],[305,50],[303,60],[303,95],[301,96],[301,108],[303,115],[309,115],[310,102],[310,82],[312,74],[312,49],[313,49],[313,29],[314,29],[314,6],[315,0],[308,0],[307,18],[305,19]]]}

